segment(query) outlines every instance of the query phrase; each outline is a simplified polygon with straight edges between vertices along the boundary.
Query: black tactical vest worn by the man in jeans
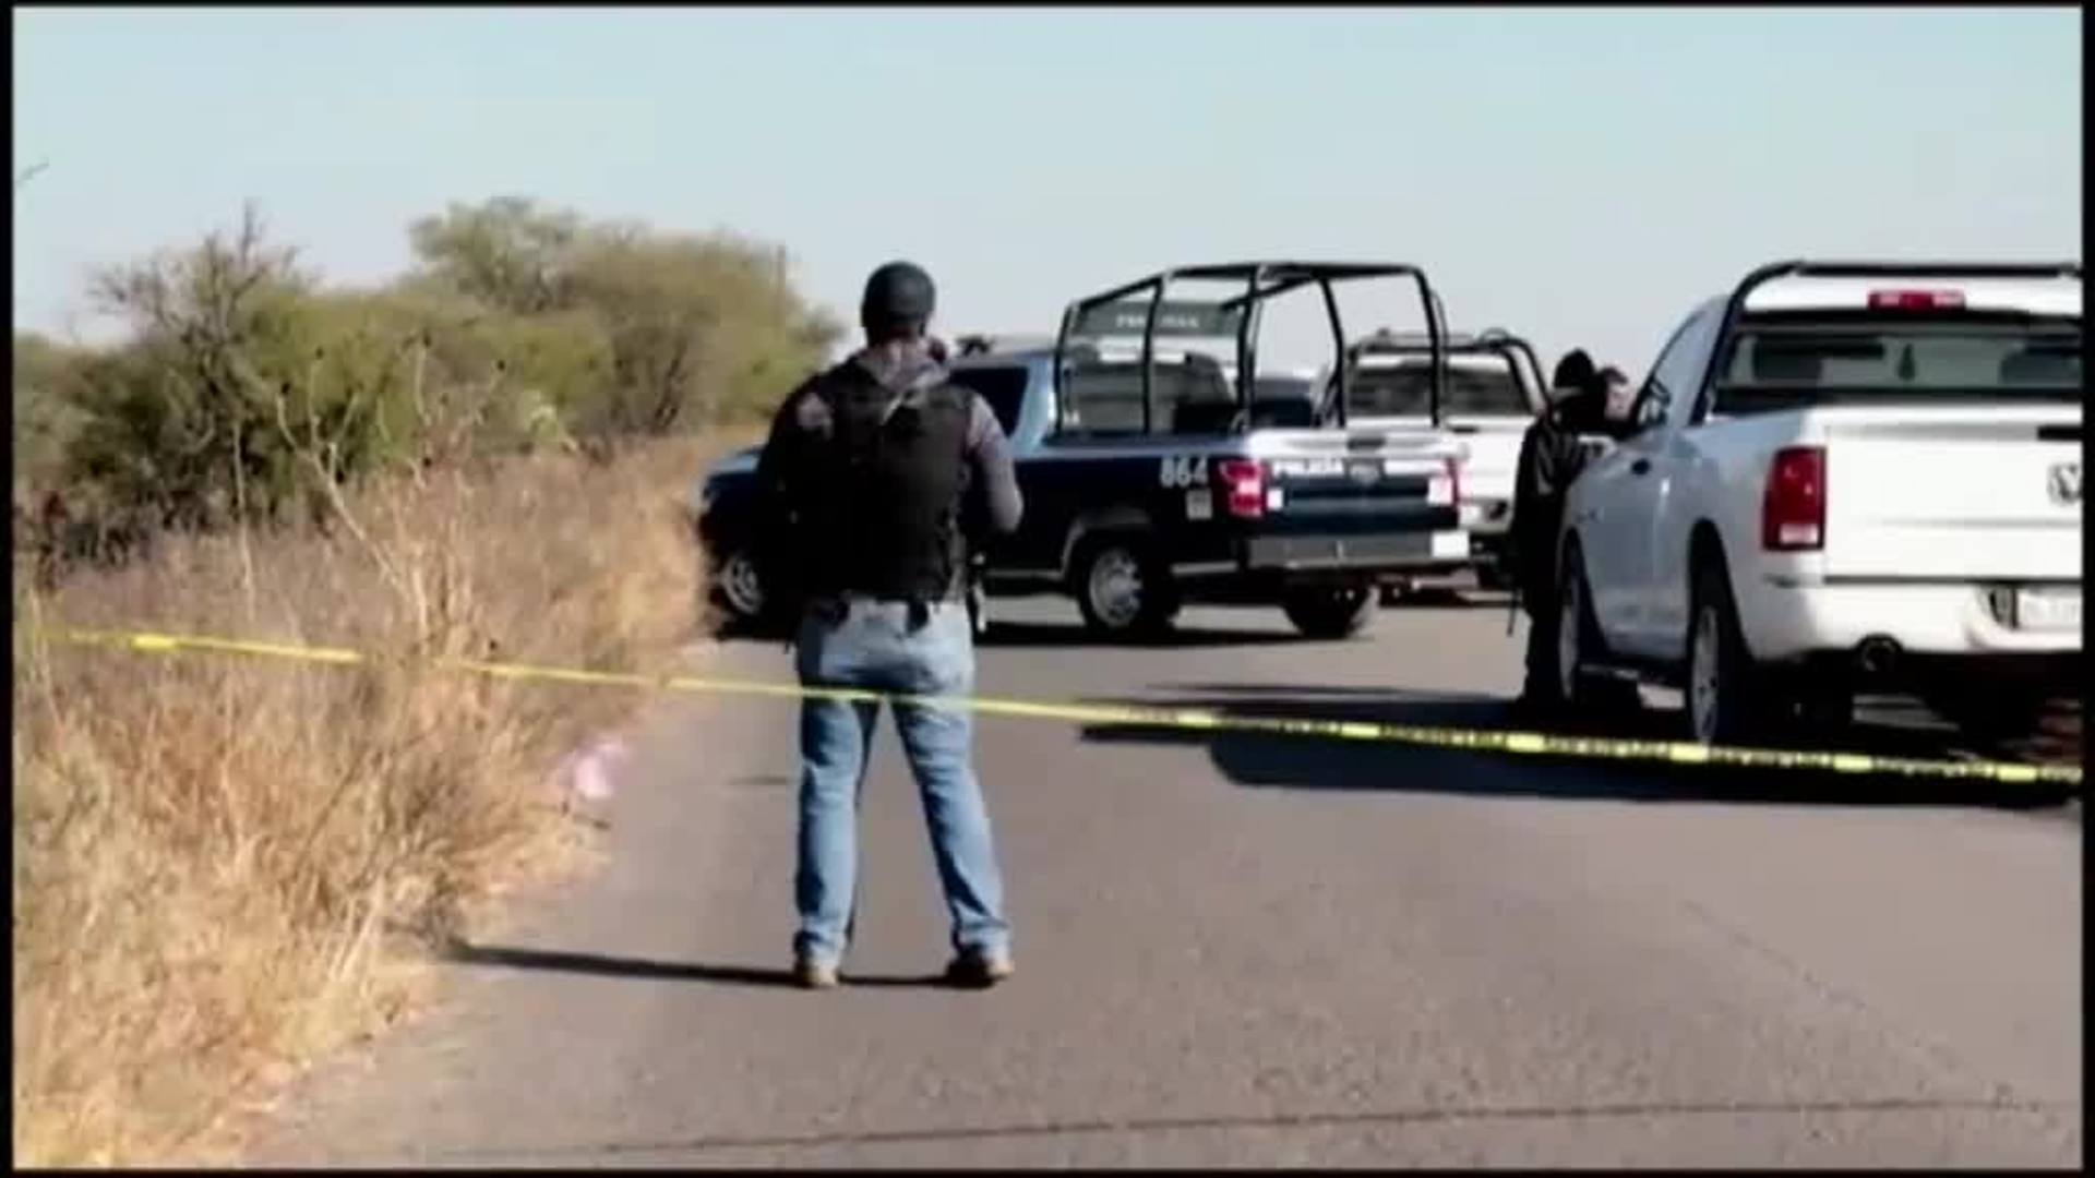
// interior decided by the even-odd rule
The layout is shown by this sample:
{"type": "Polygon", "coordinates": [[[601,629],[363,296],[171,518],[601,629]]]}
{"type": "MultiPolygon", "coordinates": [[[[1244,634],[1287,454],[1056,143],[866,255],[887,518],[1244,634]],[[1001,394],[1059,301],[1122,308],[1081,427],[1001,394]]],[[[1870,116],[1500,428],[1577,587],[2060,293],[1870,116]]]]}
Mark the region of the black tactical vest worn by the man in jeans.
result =
{"type": "Polygon", "coordinates": [[[957,595],[972,394],[953,384],[897,394],[844,365],[815,396],[834,428],[809,463],[807,591],[895,602],[957,595]]]}

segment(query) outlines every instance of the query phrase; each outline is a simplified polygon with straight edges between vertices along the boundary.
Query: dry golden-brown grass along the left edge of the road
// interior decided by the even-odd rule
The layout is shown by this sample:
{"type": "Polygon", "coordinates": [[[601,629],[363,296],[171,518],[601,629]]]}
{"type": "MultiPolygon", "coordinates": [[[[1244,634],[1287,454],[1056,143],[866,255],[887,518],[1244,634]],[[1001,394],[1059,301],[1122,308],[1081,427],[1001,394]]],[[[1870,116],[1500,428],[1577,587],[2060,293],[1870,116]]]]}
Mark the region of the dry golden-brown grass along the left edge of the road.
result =
{"type": "Polygon", "coordinates": [[[396,1019],[432,933],[572,864],[545,788],[641,698],[417,669],[649,669],[693,633],[662,444],[390,484],[333,537],[189,539],[15,606],[15,1159],[222,1157],[289,1069],[396,1019]],[[136,656],[36,620],[356,646],[381,664],[136,656]]]}

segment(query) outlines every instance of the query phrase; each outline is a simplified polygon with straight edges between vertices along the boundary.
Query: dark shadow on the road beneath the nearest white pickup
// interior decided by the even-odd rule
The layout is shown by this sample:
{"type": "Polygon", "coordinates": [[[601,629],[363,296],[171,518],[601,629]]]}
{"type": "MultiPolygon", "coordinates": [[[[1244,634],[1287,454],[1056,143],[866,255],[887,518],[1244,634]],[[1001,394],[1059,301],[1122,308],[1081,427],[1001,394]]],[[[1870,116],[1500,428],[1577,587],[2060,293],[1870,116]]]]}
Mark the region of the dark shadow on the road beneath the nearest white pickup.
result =
{"type": "MultiPolygon", "coordinates": [[[[1510,700],[1479,694],[1420,694],[1374,688],[1299,688],[1259,683],[1196,683],[1163,688],[1165,696],[1087,700],[1106,706],[1194,708],[1223,717],[1320,719],[1414,727],[1536,732],[1510,700]]],[[[1676,740],[1678,717],[1645,708],[1607,723],[1552,725],[1552,734],[1628,740],[1676,740]]],[[[1471,752],[1278,732],[1217,732],[1142,723],[1096,723],[1083,738],[1098,744],[1207,746],[1215,769],[1247,788],[1381,790],[1554,801],[1741,803],[1846,807],[1990,807],[2030,809],[2064,801],[2072,786],[2003,786],[1999,782],[1909,778],[1896,773],[1833,773],[1816,769],[1749,769],[1672,765],[1659,761],[1571,759],[1513,752],[1471,752]]],[[[1842,752],[1948,759],[1938,732],[1856,725],[1842,752]]]]}

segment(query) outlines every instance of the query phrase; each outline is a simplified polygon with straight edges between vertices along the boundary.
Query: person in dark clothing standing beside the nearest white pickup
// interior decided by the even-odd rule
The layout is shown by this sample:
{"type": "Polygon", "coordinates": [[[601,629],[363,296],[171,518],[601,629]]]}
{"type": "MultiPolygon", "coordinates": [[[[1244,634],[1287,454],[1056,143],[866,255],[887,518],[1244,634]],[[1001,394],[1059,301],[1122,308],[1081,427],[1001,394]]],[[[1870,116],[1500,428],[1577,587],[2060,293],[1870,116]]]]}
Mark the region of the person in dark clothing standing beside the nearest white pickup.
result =
{"type": "Polygon", "coordinates": [[[1521,702],[1529,711],[1557,698],[1557,539],[1565,490],[1590,457],[1580,436],[1607,432],[1607,384],[1584,350],[1573,348],[1557,363],[1550,386],[1550,407],[1521,436],[1513,484],[1515,593],[1527,612],[1521,702]]]}

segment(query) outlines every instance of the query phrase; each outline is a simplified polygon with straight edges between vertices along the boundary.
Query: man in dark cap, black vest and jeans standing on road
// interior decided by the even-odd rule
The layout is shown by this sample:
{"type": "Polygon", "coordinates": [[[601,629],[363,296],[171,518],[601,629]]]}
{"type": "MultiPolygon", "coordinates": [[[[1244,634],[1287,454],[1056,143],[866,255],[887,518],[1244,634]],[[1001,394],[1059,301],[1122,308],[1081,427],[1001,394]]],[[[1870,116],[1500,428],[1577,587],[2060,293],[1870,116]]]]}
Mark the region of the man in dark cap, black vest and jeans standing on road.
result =
{"type": "MultiPolygon", "coordinates": [[[[1012,457],[995,413],[953,384],[926,337],[930,275],[890,262],[865,283],[865,350],[798,388],[758,461],[767,547],[804,602],[796,669],[809,688],[907,696],[974,690],[968,553],[1018,528],[1012,457]]],[[[857,803],[880,702],[800,704],[800,849],[794,977],[838,983],[857,895],[857,803]]],[[[972,715],[895,704],[951,912],[947,977],[1012,973],[1004,880],[974,776],[972,715]]]]}

